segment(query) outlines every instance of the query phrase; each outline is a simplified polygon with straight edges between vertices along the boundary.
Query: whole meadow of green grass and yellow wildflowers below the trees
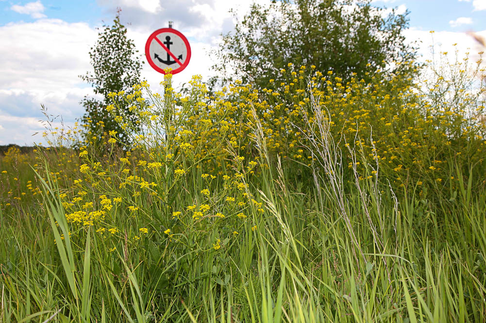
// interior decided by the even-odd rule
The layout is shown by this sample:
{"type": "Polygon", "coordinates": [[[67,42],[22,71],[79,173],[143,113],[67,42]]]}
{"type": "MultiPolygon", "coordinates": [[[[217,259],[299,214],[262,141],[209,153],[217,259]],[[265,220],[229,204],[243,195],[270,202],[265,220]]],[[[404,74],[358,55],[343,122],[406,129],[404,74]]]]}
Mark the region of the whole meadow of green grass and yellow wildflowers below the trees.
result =
{"type": "Polygon", "coordinates": [[[483,75],[111,93],[0,159],[0,322],[485,322],[483,75]]]}

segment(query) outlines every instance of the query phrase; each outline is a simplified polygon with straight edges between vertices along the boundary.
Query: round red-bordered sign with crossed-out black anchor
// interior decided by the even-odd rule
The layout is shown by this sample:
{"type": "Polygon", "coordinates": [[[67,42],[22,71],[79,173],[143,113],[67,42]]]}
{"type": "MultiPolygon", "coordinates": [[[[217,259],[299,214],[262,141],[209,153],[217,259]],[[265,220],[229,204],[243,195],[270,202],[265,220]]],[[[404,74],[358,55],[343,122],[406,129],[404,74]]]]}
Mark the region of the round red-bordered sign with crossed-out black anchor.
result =
{"type": "Polygon", "coordinates": [[[150,66],[165,74],[164,69],[172,68],[172,74],[181,72],[191,59],[191,46],[187,38],[172,28],[162,28],[152,32],[145,43],[145,56],[150,66]]]}

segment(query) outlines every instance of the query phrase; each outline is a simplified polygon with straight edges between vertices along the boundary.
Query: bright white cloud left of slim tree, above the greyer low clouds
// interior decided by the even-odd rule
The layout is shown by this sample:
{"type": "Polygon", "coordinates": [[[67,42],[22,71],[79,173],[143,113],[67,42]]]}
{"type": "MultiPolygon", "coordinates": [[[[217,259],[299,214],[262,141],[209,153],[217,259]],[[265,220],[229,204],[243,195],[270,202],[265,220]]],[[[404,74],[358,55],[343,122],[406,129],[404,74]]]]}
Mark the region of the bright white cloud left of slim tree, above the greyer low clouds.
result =
{"type": "Polygon", "coordinates": [[[86,23],[58,19],[0,26],[0,88],[49,92],[79,86],[96,35],[86,23]]]}

